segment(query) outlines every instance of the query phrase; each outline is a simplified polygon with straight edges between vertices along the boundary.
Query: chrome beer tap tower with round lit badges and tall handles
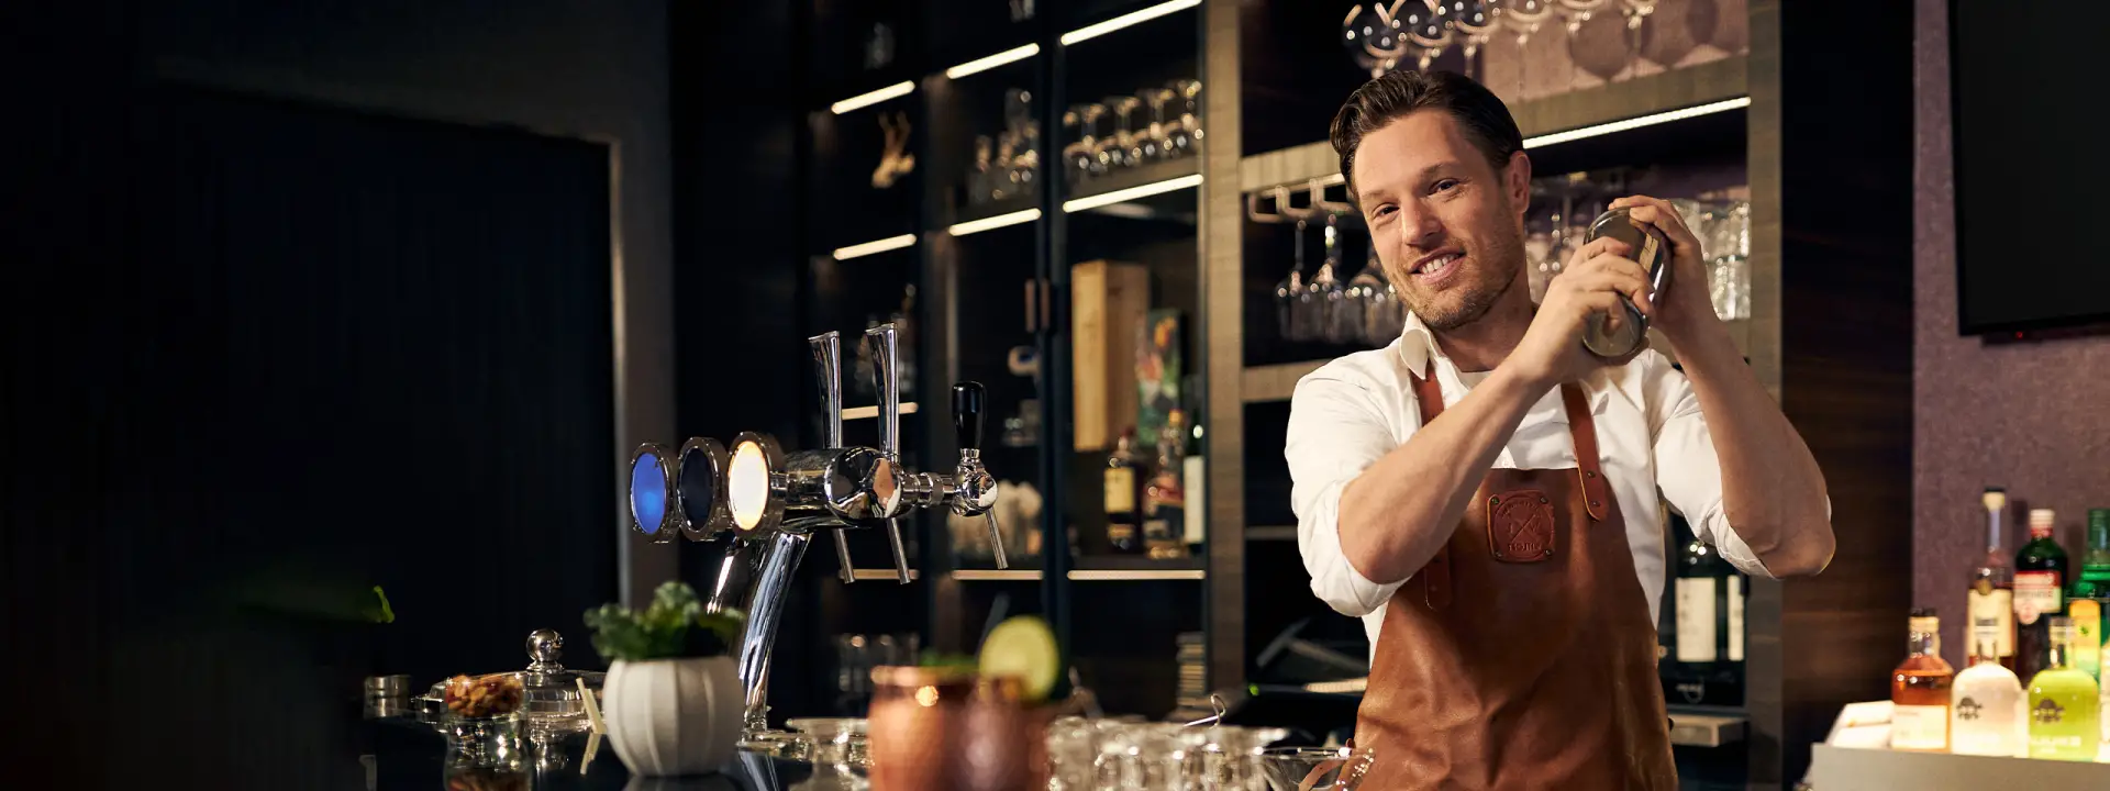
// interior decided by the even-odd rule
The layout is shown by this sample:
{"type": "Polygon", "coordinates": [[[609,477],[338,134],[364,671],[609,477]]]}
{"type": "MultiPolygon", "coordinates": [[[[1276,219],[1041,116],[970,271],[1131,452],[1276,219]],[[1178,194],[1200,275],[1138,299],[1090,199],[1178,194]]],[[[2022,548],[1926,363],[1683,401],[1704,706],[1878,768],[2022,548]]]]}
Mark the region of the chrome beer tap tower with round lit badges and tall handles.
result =
{"type": "Polygon", "coordinates": [[[960,462],[950,475],[901,468],[901,388],[895,367],[895,325],[865,331],[874,384],[880,394],[880,447],[844,447],[842,441],[842,348],[829,331],[806,340],[821,382],[823,445],[785,454],[776,439],[741,432],[732,449],[696,437],[669,458],[658,443],[631,454],[631,527],[654,542],[732,536],[707,612],[741,610],[738,673],[747,694],[749,734],[768,730],[770,650],[783,620],[785,595],[819,532],[833,534],[842,582],[855,582],[846,529],[886,529],[895,555],[895,576],[912,580],[899,517],[912,508],[952,508],[981,515],[996,546],[996,567],[1009,567],[996,523],[996,479],[981,466],[983,388],[977,382],[952,386],[954,435],[960,462]]]}

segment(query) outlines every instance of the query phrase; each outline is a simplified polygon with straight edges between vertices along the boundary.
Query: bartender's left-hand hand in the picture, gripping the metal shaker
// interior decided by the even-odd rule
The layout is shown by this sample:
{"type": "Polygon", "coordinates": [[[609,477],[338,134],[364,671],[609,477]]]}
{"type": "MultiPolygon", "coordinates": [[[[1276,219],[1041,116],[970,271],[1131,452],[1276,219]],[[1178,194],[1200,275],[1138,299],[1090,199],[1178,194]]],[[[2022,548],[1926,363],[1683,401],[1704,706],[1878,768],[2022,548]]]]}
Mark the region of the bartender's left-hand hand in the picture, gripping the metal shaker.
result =
{"type": "Polygon", "coordinates": [[[1623,365],[1648,348],[1644,342],[1616,361],[1582,348],[1582,329],[1589,327],[1591,316],[1606,314],[1612,327],[1618,327],[1618,323],[1629,321],[1623,308],[1627,302],[1654,321],[1648,276],[1642,264],[1625,257],[1631,251],[1627,243],[1616,238],[1597,238],[1576,249],[1561,274],[1547,285],[1532,327],[1523,331],[1523,342],[1502,365],[1515,365],[1517,373],[1534,386],[1551,388],[1580,380],[1604,365],[1623,365]]]}

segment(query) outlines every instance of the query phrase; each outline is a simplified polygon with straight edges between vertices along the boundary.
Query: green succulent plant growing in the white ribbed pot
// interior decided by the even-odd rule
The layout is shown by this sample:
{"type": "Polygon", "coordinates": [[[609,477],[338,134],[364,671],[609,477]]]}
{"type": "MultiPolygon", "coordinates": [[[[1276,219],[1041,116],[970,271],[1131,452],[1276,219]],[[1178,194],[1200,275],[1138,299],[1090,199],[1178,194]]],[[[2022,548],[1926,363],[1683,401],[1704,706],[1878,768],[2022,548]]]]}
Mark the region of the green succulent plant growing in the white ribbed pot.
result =
{"type": "Polygon", "coordinates": [[[747,614],[738,610],[703,612],[688,582],[660,584],[646,612],[618,603],[587,610],[593,650],[610,662],[724,656],[741,643],[745,624],[747,614]]]}

